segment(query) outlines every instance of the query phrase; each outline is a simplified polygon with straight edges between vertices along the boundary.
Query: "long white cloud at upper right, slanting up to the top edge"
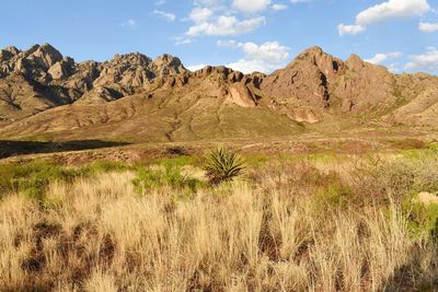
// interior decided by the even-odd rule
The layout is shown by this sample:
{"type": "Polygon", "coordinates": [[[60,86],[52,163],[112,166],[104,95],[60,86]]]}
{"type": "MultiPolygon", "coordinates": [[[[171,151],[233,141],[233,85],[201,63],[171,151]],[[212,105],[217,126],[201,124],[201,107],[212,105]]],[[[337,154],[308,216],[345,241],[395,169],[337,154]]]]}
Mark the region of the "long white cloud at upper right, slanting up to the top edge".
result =
{"type": "Polygon", "coordinates": [[[358,34],[364,32],[369,25],[391,19],[417,17],[430,10],[427,0],[388,0],[380,4],[370,7],[357,14],[355,24],[341,24],[338,26],[339,35],[358,34]],[[344,30],[341,30],[339,27],[344,27],[344,30]]]}

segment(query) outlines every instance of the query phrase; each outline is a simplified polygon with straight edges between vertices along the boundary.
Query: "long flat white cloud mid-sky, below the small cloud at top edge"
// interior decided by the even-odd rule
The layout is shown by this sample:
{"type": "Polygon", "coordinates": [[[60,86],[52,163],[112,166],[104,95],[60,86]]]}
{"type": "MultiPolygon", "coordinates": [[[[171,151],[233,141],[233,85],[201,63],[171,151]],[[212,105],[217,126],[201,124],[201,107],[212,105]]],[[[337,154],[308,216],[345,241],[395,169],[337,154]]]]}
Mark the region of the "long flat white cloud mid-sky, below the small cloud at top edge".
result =
{"type": "Polygon", "coordinates": [[[266,20],[264,16],[246,19],[246,20],[238,20],[233,15],[220,15],[215,21],[209,22],[199,22],[195,25],[191,26],[186,32],[186,35],[189,36],[199,36],[199,35],[218,35],[218,36],[227,36],[227,35],[240,35],[247,32],[252,32],[255,28],[258,28],[263,24],[265,24],[266,20]]]}

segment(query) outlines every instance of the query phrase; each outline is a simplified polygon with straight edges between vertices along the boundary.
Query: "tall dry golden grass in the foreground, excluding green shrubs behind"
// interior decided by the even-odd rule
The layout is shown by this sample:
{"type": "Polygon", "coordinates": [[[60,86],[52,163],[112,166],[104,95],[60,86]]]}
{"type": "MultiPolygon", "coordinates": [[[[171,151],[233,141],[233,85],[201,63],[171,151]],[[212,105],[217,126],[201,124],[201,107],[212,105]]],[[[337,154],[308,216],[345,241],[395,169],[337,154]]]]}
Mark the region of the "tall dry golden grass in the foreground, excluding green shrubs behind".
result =
{"type": "Polygon", "coordinates": [[[390,188],[370,187],[383,177],[333,177],[276,165],[175,199],[169,186],[136,192],[122,172],[51,183],[44,205],[11,194],[0,202],[0,290],[437,289],[436,245],[410,235],[390,188]]]}

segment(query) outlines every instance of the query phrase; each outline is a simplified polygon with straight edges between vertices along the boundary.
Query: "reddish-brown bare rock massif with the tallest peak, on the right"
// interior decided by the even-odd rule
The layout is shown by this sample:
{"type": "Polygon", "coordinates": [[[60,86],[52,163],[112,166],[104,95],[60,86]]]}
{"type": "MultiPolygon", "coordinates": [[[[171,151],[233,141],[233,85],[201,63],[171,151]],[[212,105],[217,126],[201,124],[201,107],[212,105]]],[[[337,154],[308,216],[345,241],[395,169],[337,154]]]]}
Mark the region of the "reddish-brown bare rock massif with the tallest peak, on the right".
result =
{"type": "Polygon", "coordinates": [[[358,56],[351,55],[344,62],[313,47],[265,78],[262,91],[273,100],[276,110],[314,122],[324,112],[360,115],[392,107],[396,103],[394,82],[395,77],[385,68],[358,56]],[[309,108],[312,114],[303,115],[309,108]]]}

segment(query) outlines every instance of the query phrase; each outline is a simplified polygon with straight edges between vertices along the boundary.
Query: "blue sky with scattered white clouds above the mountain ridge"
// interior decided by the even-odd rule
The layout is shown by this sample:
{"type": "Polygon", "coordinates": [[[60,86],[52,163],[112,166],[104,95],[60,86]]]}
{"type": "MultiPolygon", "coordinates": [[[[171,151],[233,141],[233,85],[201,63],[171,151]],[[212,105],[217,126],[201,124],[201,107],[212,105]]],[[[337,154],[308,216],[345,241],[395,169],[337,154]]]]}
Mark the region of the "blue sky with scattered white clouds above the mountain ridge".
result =
{"type": "Polygon", "coordinates": [[[318,45],[395,72],[438,73],[438,0],[2,0],[0,47],[77,61],[169,52],[196,69],[270,72],[318,45]]]}

